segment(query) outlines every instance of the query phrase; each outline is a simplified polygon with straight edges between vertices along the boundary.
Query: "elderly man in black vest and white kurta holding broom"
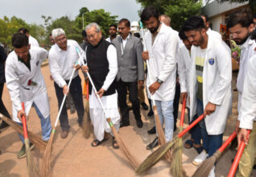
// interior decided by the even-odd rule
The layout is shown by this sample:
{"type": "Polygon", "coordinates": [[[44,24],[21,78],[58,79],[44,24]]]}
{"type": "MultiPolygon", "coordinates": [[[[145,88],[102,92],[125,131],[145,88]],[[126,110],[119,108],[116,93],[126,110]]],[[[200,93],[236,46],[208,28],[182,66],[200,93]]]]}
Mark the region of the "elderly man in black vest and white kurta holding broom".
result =
{"type": "MultiPolygon", "coordinates": [[[[105,142],[107,137],[105,132],[111,132],[111,128],[106,121],[111,118],[116,130],[119,130],[120,115],[118,112],[118,94],[115,89],[115,77],[118,73],[117,51],[113,44],[102,38],[101,28],[97,23],[90,23],[85,27],[89,45],[85,49],[85,59],[87,66],[82,70],[89,71],[93,84],[97,89],[97,94],[101,97],[103,110],[100,101],[97,100],[92,84],[89,84],[89,113],[93,121],[94,135],[96,137],[92,146],[98,146],[105,142]]],[[[113,135],[113,134],[112,134],[113,135]]],[[[118,144],[113,137],[113,147],[118,148],[118,144]]]]}

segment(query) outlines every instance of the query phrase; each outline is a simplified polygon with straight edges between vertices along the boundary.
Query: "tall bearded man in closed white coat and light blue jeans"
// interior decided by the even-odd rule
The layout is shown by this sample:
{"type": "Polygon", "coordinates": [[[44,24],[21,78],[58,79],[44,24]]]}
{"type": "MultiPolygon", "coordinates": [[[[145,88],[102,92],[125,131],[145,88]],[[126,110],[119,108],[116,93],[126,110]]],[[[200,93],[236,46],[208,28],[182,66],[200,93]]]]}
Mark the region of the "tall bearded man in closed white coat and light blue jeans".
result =
{"type": "MultiPolygon", "coordinates": [[[[148,60],[147,92],[151,100],[155,100],[159,120],[164,122],[166,141],[173,137],[173,100],[176,83],[176,47],[179,36],[170,27],[159,21],[159,12],[153,6],[142,10],[140,16],[142,23],[147,26],[145,43],[147,51],[142,52],[142,58],[148,60]]],[[[151,150],[158,146],[155,138],[147,146],[151,150]]]]}

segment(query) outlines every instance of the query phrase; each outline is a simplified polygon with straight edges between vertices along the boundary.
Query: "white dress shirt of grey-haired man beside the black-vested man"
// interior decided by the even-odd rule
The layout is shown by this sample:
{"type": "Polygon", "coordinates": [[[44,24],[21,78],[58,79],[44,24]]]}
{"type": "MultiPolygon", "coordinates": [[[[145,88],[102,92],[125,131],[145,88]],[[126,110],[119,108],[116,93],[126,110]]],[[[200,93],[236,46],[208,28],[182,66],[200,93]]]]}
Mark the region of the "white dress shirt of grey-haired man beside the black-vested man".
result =
{"type": "MultiPolygon", "coordinates": [[[[81,56],[85,54],[85,51],[81,49],[75,40],[68,39],[67,45],[67,51],[60,49],[58,45],[53,45],[49,51],[49,65],[52,78],[60,88],[67,84],[65,80],[70,80],[76,62],[81,65],[81,59],[76,51],[76,47],[79,49],[81,56]]],[[[77,75],[78,71],[74,73],[72,79],[77,75]]]]}

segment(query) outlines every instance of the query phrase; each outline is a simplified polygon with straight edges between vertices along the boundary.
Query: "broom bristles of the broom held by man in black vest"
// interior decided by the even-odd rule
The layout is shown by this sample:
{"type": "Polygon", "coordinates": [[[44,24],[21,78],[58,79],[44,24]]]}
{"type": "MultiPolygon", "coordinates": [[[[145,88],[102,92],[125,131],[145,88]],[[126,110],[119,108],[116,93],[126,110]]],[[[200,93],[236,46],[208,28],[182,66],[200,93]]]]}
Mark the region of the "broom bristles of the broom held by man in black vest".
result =
{"type": "MultiPolygon", "coordinates": [[[[111,122],[110,118],[107,118],[108,122],[111,122]]],[[[130,165],[132,167],[134,167],[134,169],[137,169],[140,162],[132,155],[130,154],[130,151],[127,149],[126,145],[124,142],[122,142],[122,138],[120,137],[120,135],[118,134],[117,130],[114,128],[114,126],[110,126],[111,130],[114,134],[114,138],[117,140],[118,142],[118,146],[120,147],[120,149],[122,150],[122,153],[126,156],[128,162],[130,163],[130,165]]]]}

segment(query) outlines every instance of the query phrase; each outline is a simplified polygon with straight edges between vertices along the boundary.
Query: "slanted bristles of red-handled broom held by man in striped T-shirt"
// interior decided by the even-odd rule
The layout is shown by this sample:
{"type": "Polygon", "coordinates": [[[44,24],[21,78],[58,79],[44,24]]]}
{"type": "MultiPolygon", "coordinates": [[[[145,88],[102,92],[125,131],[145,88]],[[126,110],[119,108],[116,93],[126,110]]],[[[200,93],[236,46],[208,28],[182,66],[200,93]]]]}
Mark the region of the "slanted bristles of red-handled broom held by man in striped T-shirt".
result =
{"type": "Polygon", "coordinates": [[[159,146],[157,150],[147,156],[147,158],[137,168],[136,173],[142,174],[144,171],[147,171],[149,168],[153,167],[155,163],[159,162],[163,155],[166,154],[167,151],[170,150],[171,146],[173,146],[178,140],[179,137],[175,137],[171,140],[171,142],[167,142],[164,145],[159,146]]]}

